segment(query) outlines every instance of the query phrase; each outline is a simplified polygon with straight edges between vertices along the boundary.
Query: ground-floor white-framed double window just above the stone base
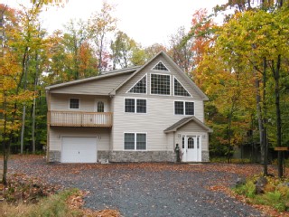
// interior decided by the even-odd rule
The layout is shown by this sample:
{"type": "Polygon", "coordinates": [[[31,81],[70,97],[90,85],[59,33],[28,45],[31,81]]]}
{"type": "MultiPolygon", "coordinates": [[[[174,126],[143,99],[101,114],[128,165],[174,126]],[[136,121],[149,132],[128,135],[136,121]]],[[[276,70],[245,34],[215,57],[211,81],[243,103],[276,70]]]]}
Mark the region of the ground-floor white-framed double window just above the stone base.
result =
{"type": "Polygon", "coordinates": [[[125,150],[146,150],[146,133],[125,133],[125,150]]]}

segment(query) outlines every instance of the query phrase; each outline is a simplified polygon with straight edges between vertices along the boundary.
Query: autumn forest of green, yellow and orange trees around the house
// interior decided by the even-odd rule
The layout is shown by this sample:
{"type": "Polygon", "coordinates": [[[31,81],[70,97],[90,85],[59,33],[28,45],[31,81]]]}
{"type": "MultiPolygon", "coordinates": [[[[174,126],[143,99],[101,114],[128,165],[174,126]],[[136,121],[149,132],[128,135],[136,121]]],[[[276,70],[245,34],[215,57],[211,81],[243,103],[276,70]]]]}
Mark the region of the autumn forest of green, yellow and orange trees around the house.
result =
{"type": "MultiPolygon", "coordinates": [[[[88,20],[70,20],[48,33],[40,22],[47,5],[22,9],[0,4],[0,132],[4,153],[42,152],[46,146],[45,87],[142,65],[165,51],[203,90],[210,156],[232,156],[234,146],[289,146],[289,5],[286,0],[228,0],[214,13],[192,12],[169,45],[142,46],[117,28],[116,10],[103,2],[88,20]],[[224,15],[221,24],[213,18],[224,15]]],[[[216,2],[218,3],[218,2],[216,2]]],[[[282,161],[282,153],[279,152],[282,161]]],[[[281,173],[281,172],[280,172],[281,173]]]]}

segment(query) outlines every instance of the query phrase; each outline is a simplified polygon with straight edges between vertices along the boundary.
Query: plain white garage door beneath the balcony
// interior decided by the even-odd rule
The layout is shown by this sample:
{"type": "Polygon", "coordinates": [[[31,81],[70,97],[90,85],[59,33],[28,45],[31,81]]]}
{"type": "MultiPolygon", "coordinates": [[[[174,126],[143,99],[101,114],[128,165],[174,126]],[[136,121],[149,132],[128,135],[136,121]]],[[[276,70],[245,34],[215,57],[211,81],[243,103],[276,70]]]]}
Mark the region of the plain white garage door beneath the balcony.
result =
{"type": "Polygon", "coordinates": [[[62,137],[62,163],[96,163],[96,137],[62,137]]]}

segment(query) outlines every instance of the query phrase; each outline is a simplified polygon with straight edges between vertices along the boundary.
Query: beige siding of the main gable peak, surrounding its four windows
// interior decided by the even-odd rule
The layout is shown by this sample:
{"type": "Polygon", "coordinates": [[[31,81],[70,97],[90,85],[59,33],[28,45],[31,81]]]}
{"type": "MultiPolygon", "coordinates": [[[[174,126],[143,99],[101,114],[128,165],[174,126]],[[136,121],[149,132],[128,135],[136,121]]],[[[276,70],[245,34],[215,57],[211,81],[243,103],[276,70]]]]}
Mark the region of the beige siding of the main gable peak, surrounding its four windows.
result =
{"type": "MultiPolygon", "coordinates": [[[[174,98],[174,99],[195,99],[195,100],[200,100],[200,95],[196,92],[196,90],[194,90],[191,87],[191,84],[188,83],[187,80],[185,80],[183,78],[183,76],[187,76],[185,74],[180,74],[179,72],[177,72],[172,65],[170,65],[169,62],[165,61],[163,58],[157,58],[156,60],[154,60],[153,62],[151,62],[150,64],[148,64],[147,66],[144,67],[144,69],[142,71],[139,71],[132,79],[128,80],[126,82],[125,85],[123,85],[119,90],[117,90],[117,94],[122,95],[122,94],[126,94],[126,92],[128,90],[130,90],[135,83],[140,80],[144,74],[146,74],[147,76],[147,90],[146,90],[146,95],[150,95],[150,85],[151,85],[151,76],[150,74],[167,74],[167,75],[171,75],[171,95],[170,96],[158,96],[158,95],[153,95],[155,98],[174,98]],[[154,71],[152,70],[154,68],[154,65],[156,65],[159,61],[162,61],[163,64],[168,68],[169,71],[154,71]],[[175,78],[177,80],[179,80],[179,82],[182,84],[182,86],[189,91],[189,93],[191,94],[191,97],[179,97],[179,96],[173,96],[173,76],[175,76],[175,78]]],[[[183,73],[183,72],[181,72],[183,73]]],[[[135,95],[145,95],[145,94],[135,94],[135,95]]]]}

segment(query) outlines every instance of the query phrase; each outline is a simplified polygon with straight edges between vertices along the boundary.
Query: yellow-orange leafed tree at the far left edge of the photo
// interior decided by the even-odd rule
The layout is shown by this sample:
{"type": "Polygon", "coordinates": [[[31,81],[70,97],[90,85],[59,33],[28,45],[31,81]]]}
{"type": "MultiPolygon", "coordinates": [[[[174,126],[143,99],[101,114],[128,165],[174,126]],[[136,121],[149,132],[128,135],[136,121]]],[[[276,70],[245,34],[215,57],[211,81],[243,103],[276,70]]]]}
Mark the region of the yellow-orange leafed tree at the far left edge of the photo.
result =
{"type": "MultiPolygon", "coordinates": [[[[21,127],[18,107],[20,103],[33,98],[33,92],[21,89],[23,78],[21,55],[17,51],[16,41],[21,32],[21,13],[5,5],[0,5],[1,22],[1,52],[0,52],[0,103],[1,103],[1,143],[4,154],[3,183],[7,184],[7,162],[11,140],[21,127]]],[[[20,49],[21,50],[21,49],[20,49]]]]}

